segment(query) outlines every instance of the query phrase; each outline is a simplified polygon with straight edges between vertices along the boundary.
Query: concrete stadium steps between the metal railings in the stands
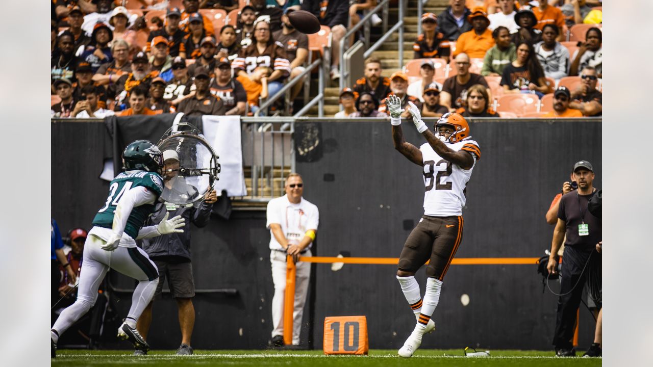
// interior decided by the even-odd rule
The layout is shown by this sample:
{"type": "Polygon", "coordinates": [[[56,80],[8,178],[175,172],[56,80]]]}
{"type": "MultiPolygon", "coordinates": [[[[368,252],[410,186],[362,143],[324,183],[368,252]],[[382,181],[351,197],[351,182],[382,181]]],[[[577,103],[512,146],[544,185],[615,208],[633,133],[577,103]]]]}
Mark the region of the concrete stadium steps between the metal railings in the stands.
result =
{"type": "MultiPolygon", "coordinates": [[[[406,14],[408,14],[408,16],[404,17],[404,22],[406,22],[406,26],[404,27],[404,65],[407,60],[413,59],[413,42],[417,39],[417,1],[419,0],[408,0],[408,6],[406,9],[406,14]]],[[[445,10],[447,6],[449,6],[449,0],[428,0],[424,4],[424,12],[440,14],[440,12],[445,10]]],[[[395,5],[395,8],[390,8],[388,22],[392,25],[397,20],[398,8],[396,8],[395,5]]],[[[381,27],[372,28],[371,33],[371,42],[375,42],[381,35],[381,27]]],[[[381,47],[374,52],[374,56],[381,59],[383,76],[390,77],[393,72],[400,69],[398,37],[398,33],[390,35],[390,40],[385,42],[385,44],[381,45],[381,47]]],[[[311,85],[317,86],[317,78],[314,83],[311,82],[311,85]]],[[[334,116],[334,114],[340,110],[340,106],[338,106],[338,97],[340,95],[338,86],[335,82],[328,82],[327,86],[328,87],[325,88],[325,117],[334,116]]],[[[311,91],[311,95],[315,95],[312,92],[313,91],[311,91]]],[[[317,92],[317,90],[315,90],[315,92],[317,92]]],[[[317,116],[317,105],[309,110],[308,116],[317,116]]]]}

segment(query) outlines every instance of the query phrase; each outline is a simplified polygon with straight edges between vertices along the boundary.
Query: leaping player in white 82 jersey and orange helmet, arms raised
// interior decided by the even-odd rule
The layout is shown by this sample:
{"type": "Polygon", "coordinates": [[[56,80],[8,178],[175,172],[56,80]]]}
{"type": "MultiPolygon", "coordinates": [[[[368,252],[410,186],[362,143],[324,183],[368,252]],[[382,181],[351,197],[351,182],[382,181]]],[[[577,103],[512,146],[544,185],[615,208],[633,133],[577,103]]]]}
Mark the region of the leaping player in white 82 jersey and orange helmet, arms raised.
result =
{"type": "Polygon", "coordinates": [[[460,114],[443,115],[436,122],[435,133],[432,133],[422,121],[419,108],[410,103],[407,110],[413,116],[417,131],[426,138],[426,143],[417,148],[404,140],[401,128],[404,111],[400,99],[390,95],[387,106],[394,149],[423,167],[424,175],[424,216],[406,239],[397,270],[404,296],[417,318],[415,329],[398,351],[401,357],[407,358],[421,345],[422,335],[435,328],[431,315],[438,306],[442,280],[460,246],[465,187],[481,158],[481,148],[471,140],[470,125],[460,114]],[[422,300],[415,272],[426,261],[429,263],[422,300]]]}

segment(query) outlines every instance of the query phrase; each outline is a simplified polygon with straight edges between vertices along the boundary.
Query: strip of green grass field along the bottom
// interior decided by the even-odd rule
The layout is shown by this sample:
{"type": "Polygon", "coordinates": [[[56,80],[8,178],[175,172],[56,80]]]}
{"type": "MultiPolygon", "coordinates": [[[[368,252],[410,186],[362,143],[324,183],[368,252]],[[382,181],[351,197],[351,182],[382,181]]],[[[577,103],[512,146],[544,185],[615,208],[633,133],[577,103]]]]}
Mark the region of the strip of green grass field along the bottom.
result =
{"type": "Polygon", "coordinates": [[[322,351],[203,351],[177,356],[174,351],[57,351],[52,366],[601,366],[601,359],[552,357],[551,351],[490,351],[491,357],[464,357],[462,349],[419,350],[410,359],[397,351],[375,349],[368,356],[325,356],[322,351]]]}

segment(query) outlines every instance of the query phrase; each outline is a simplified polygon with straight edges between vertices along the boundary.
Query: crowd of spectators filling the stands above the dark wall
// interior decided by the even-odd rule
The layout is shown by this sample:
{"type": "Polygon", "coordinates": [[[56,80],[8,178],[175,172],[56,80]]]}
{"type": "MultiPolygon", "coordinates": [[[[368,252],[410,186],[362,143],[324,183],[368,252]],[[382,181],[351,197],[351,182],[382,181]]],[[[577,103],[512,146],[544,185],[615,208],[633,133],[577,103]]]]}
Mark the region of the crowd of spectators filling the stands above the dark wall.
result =
{"type": "MultiPolygon", "coordinates": [[[[278,93],[308,63],[308,36],[291,25],[288,12],[309,10],[330,29],[330,77],[337,80],[345,25],[359,22],[376,3],[336,0],[321,8],[317,0],[53,0],[52,117],[177,111],[251,116],[261,99],[278,93]],[[144,101],[133,106],[135,88],[144,101]]],[[[554,108],[559,86],[570,91],[569,108],[600,116],[602,13],[596,5],[600,1],[449,0],[441,14],[421,14],[413,60],[391,78],[381,76],[381,59],[366,60],[353,93],[346,92],[349,86],[342,91],[351,103],[341,96],[337,116],[372,116],[359,109],[362,92],[377,99],[373,115],[381,117],[390,93],[404,104],[418,101],[431,117],[446,111],[571,116],[554,108]],[[437,88],[426,90],[432,83],[437,88]],[[468,96],[473,86],[483,86],[474,89],[480,95],[468,96]],[[438,95],[437,103],[427,107],[426,93],[438,95]]],[[[372,23],[378,25],[374,18],[372,23]]],[[[291,100],[303,86],[291,88],[291,100]]],[[[281,100],[273,111],[281,112],[281,100]]]]}

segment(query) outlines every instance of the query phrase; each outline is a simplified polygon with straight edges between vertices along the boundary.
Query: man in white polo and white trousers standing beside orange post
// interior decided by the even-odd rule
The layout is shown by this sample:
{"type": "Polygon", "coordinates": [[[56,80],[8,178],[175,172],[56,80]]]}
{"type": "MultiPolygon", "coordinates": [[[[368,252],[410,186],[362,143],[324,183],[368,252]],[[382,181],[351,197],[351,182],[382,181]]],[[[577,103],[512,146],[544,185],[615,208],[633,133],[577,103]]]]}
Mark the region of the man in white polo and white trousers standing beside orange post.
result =
{"type": "Polygon", "coordinates": [[[304,182],[302,176],[291,173],[285,182],[286,195],[270,200],[267,210],[267,224],[270,229],[270,263],[274,297],[272,298],[272,344],[283,345],[283,298],[286,284],[286,256],[292,255],[297,265],[295,279],[295,310],[293,311],[293,345],[299,345],[302,329],[302,314],[308,281],[311,276],[310,263],[297,263],[300,256],[311,256],[311,244],[317,234],[319,212],[317,206],[302,198],[304,182]]]}

